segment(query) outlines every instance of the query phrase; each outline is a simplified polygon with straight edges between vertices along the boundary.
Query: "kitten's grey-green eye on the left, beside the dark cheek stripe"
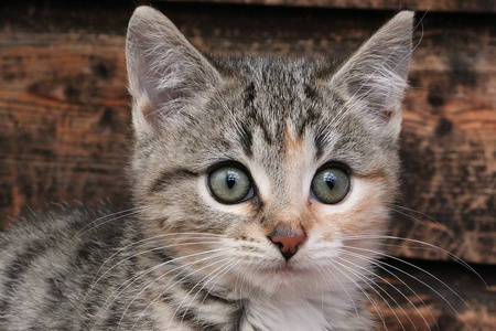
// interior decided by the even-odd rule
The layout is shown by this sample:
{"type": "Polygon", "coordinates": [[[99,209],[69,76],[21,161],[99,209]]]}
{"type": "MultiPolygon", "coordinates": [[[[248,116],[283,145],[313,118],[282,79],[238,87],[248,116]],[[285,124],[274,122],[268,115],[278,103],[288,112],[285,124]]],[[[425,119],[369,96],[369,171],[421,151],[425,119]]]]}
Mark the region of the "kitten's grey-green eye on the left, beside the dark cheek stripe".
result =
{"type": "Polygon", "coordinates": [[[214,197],[226,204],[239,203],[254,195],[254,186],[247,172],[233,166],[212,172],[208,188],[214,197]]]}

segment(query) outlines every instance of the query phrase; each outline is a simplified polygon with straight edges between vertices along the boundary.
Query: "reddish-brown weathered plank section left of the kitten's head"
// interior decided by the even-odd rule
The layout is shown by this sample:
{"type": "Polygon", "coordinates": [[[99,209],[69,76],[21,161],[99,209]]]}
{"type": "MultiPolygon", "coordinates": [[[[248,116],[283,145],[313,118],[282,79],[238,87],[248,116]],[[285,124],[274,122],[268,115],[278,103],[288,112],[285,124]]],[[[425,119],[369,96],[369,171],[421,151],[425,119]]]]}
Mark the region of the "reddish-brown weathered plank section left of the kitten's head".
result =
{"type": "Polygon", "coordinates": [[[122,36],[32,38],[9,34],[17,45],[0,51],[1,213],[127,200],[122,36]]]}

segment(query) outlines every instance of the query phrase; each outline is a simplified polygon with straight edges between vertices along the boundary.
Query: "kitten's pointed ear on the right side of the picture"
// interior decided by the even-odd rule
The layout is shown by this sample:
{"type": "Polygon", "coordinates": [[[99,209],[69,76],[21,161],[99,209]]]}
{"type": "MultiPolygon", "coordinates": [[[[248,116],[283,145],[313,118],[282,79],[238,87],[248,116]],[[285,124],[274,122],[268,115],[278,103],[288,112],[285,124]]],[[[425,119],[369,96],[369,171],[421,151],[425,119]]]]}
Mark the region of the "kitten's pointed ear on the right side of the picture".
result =
{"type": "Polygon", "coordinates": [[[371,113],[375,122],[395,138],[401,129],[401,100],[408,86],[413,14],[402,11],[393,17],[331,79],[351,107],[371,113]]]}

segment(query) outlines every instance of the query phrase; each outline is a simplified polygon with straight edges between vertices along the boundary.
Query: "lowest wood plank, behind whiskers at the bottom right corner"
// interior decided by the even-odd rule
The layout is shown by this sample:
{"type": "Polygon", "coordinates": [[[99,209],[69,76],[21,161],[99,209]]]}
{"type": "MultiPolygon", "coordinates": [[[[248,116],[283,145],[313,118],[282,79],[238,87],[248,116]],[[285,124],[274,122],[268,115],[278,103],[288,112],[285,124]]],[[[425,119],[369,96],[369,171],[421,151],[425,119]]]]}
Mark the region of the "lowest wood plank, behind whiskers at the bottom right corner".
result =
{"type": "Polygon", "coordinates": [[[495,267],[479,266],[476,269],[487,287],[474,273],[460,265],[385,260],[377,268],[379,277],[376,278],[375,290],[369,290],[387,327],[381,328],[377,310],[369,305],[378,330],[400,331],[403,330],[401,324],[405,330],[418,331],[494,330],[495,267]]]}

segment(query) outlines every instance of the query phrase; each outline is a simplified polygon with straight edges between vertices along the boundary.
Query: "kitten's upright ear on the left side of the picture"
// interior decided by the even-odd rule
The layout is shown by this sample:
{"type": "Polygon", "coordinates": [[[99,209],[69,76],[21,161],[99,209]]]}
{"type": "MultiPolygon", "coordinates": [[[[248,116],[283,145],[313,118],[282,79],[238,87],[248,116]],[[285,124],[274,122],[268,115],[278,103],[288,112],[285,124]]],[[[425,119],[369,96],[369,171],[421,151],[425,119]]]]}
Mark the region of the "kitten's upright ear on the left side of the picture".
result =
{"type": "Polygon", "coordinates": [[[177,28],[147,6],[137,8],[129,21],[126,60],[138,138],[155,135],[196,96],[222,82],[177,28]]]}

